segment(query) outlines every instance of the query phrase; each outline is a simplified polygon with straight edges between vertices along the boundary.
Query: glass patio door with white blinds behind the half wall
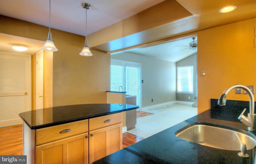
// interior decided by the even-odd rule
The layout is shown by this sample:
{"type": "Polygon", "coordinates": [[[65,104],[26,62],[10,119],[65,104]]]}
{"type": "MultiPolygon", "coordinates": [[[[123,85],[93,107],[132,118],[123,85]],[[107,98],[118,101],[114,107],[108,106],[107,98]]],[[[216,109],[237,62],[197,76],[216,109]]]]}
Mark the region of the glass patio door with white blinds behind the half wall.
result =
{"type": "Polygon", "coordinates": [[[136,105],[140,106],[140,63],[111,60],[110,90],[125,91],[136,96],[136,105]],[[122,87],[121,87],[122,86],[122,87]]]}

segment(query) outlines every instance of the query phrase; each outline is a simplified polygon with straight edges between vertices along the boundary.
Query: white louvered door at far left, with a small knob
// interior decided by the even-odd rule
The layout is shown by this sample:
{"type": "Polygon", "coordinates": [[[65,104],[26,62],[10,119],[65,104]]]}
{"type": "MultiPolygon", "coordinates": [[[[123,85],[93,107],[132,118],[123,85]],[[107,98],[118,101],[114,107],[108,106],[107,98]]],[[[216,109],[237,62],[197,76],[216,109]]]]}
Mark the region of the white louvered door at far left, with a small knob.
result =
{"type": "Polygon", "coordinates": [[[22,123],[31,110],[31,56],[0,52],[0,126],[22,123]]]}

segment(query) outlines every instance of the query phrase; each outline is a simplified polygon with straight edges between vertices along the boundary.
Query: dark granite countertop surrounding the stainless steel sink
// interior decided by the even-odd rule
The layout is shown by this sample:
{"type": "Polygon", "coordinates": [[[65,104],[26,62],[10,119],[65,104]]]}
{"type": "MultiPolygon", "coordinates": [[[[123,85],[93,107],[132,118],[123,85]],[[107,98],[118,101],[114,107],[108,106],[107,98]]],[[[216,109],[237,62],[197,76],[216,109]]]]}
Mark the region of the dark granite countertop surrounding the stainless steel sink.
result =
{"type": "MultiPolygon", "coordinates": [[[[241,109],[242,110],[242,109],[241,109]]],[[[180,139],[176,131],[194,122],[214,123],[247,131],[247,127],[237,121],[227,121],[226,117],[240,111],[220,111],[209,109],[160,133],[110,154],[94,164],[252,164],[255,148],[247,150],[249,158],[238,156],[240,151],[222,150],[180,139]],[[225,115],[223,115],[223,112],[225,115]],[[216,117],[217,116],[217,117],[216,117]],[[222,116],[222,117],[221,117],[222,116]],[[223,119],[222,119],[223,118],[223,119]]],[[[252,133],[255,135],[255,133],[252,133]]]]}

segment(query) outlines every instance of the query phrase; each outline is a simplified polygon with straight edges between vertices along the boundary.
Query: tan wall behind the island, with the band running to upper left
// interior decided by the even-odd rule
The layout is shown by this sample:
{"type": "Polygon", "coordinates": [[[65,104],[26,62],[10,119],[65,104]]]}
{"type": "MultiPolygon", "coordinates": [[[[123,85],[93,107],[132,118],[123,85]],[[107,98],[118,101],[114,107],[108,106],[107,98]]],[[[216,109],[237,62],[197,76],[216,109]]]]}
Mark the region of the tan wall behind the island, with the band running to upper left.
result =
{"type": "MultiPolygon", "coordinates": [[[[49,28],[42,25],[0,16],[0,33],[43,41],[48,31],[49,28]]],[[[56,29],[51,32],[59,49],[53,52],[52,105],[106,103],[106,90],[110,90],[110,55],[92,51],[92,57],[82,57],[79,53],[84,36],[56,29]]],[[[46,90],[50,92],[51,86],[46,84],[46,90]]],[[[50,106],[51,102],[44,104],[50,106]]]]}

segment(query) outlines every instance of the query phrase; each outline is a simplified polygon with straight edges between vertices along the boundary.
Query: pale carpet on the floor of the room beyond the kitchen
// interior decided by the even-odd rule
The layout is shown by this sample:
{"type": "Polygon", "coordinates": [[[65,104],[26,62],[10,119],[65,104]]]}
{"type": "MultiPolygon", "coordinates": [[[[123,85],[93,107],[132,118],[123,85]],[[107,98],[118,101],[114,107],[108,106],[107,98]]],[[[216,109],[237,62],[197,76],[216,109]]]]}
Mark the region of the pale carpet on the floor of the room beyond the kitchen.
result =
{"type": "Polygon", "coordinates": [[[192,105],[175,103],[173,105],[159,107],[145,112],[154,114],[138,118],[135,128],[127,131],[128,133],[143,138],[150,137],[197,115],[197,108],[192,107],[192,105]]]}

